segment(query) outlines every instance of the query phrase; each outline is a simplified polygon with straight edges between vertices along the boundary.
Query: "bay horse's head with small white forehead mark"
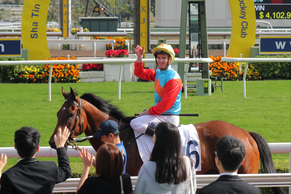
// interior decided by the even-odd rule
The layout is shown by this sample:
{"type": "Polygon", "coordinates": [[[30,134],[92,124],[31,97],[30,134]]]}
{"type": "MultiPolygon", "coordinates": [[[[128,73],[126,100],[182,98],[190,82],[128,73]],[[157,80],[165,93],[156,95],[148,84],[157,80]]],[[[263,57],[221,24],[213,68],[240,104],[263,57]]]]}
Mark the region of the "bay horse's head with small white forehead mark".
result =
{"type": "MultiPolygon", "coordinates": [[[[76,94],[72,88],[70,93],[67,94],[63,87],[62,93],[63,97],[65,98],[65,102],[56,114],[58,117],[58,123],[56,124],[54,133],[49,139],[49,145],[54,149],[56,149],[54,135],[58,135],[58,128],[63,129],[65,126],[68,127],[69,131],[71,131],[71,134],[68,138],[70,141],[71,138],[75,138],[81,135],[87,126],[86,113],[84,108],[82,108],[82,101],[77,96],[78,94],[76,94]]],[[[65,147],[68,147],[68,143],[66,143],[65,147]]]]}

